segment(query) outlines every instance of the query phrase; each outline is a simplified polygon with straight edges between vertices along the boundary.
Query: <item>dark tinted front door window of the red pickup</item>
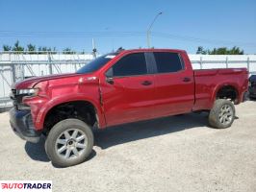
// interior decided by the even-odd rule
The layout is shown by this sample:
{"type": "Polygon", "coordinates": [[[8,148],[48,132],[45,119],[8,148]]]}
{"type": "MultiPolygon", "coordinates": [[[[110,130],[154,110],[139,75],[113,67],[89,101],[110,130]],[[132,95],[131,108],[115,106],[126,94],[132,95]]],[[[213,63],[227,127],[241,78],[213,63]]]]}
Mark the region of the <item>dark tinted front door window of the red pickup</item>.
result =
{"type": "Polygon", "coordinates": [[[133,76],[146,73],[146,62],[143,53],[125,56],[113,66],[114,76],[133,76]]]}

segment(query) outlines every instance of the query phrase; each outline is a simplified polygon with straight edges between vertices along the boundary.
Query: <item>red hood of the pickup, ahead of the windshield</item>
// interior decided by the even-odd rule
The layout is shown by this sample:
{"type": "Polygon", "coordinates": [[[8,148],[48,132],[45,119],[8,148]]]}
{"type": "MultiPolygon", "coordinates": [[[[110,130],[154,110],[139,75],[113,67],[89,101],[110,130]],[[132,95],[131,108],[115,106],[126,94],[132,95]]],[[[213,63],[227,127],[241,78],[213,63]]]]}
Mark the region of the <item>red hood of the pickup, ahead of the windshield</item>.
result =
{"type": "Polygon", "coordinates": [[[47,75],[47,76],[41,76],[41,77],[28,78],[26,80],[22,80],[20,82],[13,84],[12,89],[32,88],[34,85],[38,84],[39,82],[79,76],[79,75],[80,74],[77,74],[77,73],[65,73],[65,74],[59,74],[59,75],[47,75]]]}

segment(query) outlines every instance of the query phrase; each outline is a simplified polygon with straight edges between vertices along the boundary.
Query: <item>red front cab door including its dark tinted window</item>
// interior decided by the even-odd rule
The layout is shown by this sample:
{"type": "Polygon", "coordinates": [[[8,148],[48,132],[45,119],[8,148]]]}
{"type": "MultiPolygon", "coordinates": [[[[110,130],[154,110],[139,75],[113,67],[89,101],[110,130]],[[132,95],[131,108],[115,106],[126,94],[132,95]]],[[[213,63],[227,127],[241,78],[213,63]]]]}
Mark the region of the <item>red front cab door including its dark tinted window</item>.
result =
{"type": "Polygon", "coordinates": [[[144,53],[130,53],[117,60],[100,80],[107,126],[152,117],[154,88],[144,53]]]}

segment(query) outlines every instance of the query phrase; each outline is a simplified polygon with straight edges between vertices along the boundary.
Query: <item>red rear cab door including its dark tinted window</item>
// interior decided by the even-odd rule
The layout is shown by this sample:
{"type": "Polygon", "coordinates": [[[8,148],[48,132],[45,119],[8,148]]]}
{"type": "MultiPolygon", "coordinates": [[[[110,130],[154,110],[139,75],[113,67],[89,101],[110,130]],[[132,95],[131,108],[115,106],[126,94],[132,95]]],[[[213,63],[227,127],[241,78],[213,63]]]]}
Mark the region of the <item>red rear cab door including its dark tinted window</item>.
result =
{"type": "Polygon", "coordinates": [[[154,52],[156,101],[154,116],[186,113],[192,110],[194,82],[191,65],[180,53],[154,52]]]}

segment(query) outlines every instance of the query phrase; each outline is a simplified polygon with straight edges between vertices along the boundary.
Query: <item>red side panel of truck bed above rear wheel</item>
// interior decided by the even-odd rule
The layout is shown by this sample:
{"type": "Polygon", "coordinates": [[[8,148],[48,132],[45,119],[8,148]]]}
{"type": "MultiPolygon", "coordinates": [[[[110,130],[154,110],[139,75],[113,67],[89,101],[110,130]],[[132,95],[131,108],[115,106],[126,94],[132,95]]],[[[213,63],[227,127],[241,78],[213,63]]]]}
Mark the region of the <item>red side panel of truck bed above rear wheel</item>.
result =
{"type": "Polygon", "coordinates": [[[243,101],[243,94],[247,89],[248,82],[246,68],[199,69],[193,70],[193,76],[195,82],[193,110],[212,108],[212,101],[216,98],[218,89],[227,84],[233,86],[240,93],[235,104],[243,101]]]}

